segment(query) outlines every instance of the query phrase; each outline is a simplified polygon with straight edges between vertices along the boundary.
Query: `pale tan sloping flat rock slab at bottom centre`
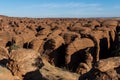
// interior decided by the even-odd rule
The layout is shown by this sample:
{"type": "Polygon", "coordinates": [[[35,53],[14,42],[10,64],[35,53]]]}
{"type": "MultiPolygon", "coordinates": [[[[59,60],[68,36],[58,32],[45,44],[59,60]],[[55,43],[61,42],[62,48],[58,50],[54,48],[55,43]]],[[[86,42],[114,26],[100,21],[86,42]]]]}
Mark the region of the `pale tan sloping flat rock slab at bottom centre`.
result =
{"type": "Polygon", "coordinates": [[[40,69],[41,74],[47,80],[78,80],[79,74],[54,67],[46,60],[43,60],[45,66],[40,69]]]}

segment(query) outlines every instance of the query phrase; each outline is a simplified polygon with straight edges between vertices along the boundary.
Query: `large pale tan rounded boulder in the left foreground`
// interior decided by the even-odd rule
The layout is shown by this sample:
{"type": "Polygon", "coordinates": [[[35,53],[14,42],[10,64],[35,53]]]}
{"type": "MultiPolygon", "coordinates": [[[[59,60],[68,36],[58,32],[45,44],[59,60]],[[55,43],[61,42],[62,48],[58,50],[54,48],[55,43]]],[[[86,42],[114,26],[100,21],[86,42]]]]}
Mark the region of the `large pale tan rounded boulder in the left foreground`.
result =
{"type": "Polygon", "coordinates": [[[40,54],[30,49],[18,49],[10,53],[9,70],[21,79],[28,72],[38,70],[43,66],[40,54]]]}

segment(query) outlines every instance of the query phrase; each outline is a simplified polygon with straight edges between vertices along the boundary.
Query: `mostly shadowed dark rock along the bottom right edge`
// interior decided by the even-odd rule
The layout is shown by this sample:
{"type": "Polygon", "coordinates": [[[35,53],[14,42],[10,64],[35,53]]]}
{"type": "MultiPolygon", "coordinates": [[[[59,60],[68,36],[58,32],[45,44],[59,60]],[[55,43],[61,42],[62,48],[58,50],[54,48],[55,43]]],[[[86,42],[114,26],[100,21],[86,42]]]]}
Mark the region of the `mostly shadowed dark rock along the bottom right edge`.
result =
{"type": "Polygon", "coordinates": [[[119,80],[119,77],[115,70],[109,70],[103,73],[94,69],[84,75],[84,77],[80,77],[79,80],[119,80]]]}

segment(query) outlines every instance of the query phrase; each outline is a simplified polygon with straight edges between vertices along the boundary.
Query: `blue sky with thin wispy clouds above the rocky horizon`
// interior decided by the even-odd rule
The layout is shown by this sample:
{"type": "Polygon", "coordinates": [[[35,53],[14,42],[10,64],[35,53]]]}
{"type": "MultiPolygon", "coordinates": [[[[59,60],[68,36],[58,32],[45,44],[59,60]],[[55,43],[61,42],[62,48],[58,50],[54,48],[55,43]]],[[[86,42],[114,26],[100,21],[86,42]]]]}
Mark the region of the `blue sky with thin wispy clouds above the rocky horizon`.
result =
{"type": "Polygon", "coordinates": [[[120,0],[0,0],[0,15],[37,18],[120,17],[120,0]]]}

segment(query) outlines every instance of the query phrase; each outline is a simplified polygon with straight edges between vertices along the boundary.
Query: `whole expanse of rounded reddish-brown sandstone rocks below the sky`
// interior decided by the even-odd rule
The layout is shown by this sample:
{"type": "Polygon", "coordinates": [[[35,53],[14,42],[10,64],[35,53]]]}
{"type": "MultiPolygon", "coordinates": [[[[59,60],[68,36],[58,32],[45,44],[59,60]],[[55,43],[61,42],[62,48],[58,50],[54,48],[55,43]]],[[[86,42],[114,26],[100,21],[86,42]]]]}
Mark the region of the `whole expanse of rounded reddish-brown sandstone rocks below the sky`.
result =
{"type": "Polygon", "coordinates": [[[120,80],[119,56],[119,18],[0,16],[0,70],[13,80],[120,80]]]}

